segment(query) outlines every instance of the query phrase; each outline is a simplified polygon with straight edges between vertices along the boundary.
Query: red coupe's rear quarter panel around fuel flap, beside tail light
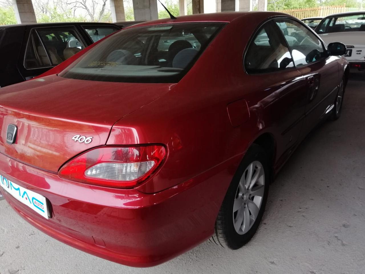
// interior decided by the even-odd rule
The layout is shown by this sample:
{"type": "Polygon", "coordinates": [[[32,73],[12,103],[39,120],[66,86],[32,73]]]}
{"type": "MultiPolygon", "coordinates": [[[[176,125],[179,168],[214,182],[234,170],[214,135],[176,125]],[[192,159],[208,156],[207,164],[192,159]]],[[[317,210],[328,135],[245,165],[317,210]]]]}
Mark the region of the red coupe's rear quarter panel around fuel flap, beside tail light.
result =
{"type": "MultiPolygon", "coordinates": [[[[192,69],[155,102],[124,117],[112,128],[107,144],[163,143],[168,158],[163,168],[137,189],[156,193],[185,182],[230,159],[227,176],[220,183],[228,188],[246,149],[264,132],[279,137],[280,113],[266,108],[276,99],[271,92],[253,92],[255,83],[243,70],[242,56],[255,28],[266,17],[233,20],[211,42],[192,69]],[[242,32],[237,31],[242,30],[242,32]],[[234,42],[230,42],[234,41],[234,42]],[[247,101],[250,117],[233,127],[227,104],[247,101]],[[239,156],[238,158],[236,158],[239,156]]],[[[274,77],[274,76],[273,76],[274,77]]],[[[270,86],[272,78],[263,79],[270,86]]],[[[280,152],[281,153],[281,152],[280,152]]],[[[220,205],[225,191],[217,193],[220,205]]]]}

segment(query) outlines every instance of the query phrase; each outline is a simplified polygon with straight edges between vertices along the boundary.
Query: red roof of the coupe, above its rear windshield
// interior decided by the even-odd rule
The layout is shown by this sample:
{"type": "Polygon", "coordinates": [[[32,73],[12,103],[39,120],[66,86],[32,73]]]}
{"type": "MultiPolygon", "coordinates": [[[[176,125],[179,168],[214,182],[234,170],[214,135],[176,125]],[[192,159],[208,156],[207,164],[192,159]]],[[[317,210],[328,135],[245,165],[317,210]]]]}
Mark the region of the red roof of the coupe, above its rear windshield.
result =
{"type": "Polygon", "coordinates": [[[193,14],[193,15],[184,15],[184,16],[177,16],[176,19],[164,18],[152,21],[146,21],[139,24],[135,24],[128,28],[132,27],[140,27],[140,26],[149,26],[154,24],[164,24],[164,23],[182,23],[182,22],[231,22],[236,18],[240,17],[247,17],[247,18],[257,18],[262,17],[264,20],[265,18],[269,18],[276,15],[282,16],[293,16],[289,14],[285,14],[283,12],[274,12],[274,11],[249,11],[249,12],[217,12],[217,13],[207,13],[207,14],[193,14]]]}

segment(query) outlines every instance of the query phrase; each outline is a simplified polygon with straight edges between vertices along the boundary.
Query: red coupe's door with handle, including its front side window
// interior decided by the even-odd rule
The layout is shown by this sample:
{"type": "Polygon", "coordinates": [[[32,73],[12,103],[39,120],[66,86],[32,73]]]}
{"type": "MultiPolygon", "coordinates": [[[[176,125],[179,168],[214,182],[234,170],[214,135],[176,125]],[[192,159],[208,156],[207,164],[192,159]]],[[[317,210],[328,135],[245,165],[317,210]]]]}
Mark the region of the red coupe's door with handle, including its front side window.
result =
{"type": "Polygon", "coordinates": [[[287,26],[287,36],[296,39],[289,43],[293,61],[303,75],[307,85],[307,106],[305,110],[304,137],[319,122],[320,118],[333,107],[338,79],[338,57],[328,56],[322,41],[299,20],[290,18],[274,19],[279,29],[287,26]]]}

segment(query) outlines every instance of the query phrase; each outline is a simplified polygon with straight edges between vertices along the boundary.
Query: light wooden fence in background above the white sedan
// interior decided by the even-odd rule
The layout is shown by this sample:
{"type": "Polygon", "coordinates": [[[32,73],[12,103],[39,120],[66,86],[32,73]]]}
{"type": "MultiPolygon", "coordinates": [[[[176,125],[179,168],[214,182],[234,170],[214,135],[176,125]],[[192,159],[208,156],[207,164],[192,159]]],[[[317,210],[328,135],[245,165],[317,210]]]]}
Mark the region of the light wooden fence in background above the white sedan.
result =
{"type": "Polygon", "coordinates": [[[285,9],[280,12],[285,12],[287,14],[293,15],[296,18],[303,19],[306,17],[315,17],[315,16],[327,16],[339,12],[348,12],[348,11],[357,11],[357,8],[346,8],[346,5],[343,4],[341,6],[324,6],[324,7],[316,7],[316,8],[300,8],[300,9],[285,9]]]}

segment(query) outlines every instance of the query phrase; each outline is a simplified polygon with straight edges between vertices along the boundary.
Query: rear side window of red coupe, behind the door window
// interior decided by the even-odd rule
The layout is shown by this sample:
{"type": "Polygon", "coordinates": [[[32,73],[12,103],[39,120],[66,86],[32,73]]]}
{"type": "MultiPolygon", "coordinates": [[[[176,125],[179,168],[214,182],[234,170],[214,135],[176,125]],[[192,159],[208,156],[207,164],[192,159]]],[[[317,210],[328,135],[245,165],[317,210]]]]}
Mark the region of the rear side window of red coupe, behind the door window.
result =
{"type": "Polygon", "coordinates": [[[244,60],[247,73],[266,73],[293,67],[283,35],[272,21],[265,23],[251,41],[244,60]]]}

